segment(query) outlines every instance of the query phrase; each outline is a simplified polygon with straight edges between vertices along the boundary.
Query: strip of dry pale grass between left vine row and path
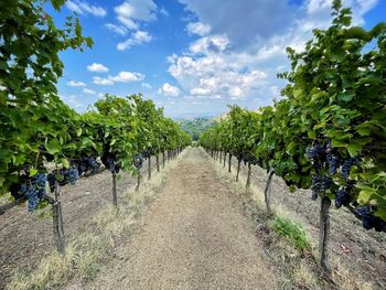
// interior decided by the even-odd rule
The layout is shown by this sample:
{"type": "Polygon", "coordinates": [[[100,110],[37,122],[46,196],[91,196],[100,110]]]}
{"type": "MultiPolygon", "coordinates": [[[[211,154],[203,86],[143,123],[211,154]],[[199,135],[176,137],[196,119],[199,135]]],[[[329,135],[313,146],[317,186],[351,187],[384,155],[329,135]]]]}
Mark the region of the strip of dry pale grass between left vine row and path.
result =
{"type": "Polygon", "coordinates": [[[176,167],[184,153],[170,161],[161,172],[153,172],[150,181],[143,179],[138,192],[128,190],[118,208],[109,205],[92,216],[88,227],[67,244],[64,255],[52,253],[32,272],[15,275],[7,289],[55,289],[71,279],[85,280],[95,275],[117,240],[128,238],[143,205],[154,198],[169,171],[176,167]]]}

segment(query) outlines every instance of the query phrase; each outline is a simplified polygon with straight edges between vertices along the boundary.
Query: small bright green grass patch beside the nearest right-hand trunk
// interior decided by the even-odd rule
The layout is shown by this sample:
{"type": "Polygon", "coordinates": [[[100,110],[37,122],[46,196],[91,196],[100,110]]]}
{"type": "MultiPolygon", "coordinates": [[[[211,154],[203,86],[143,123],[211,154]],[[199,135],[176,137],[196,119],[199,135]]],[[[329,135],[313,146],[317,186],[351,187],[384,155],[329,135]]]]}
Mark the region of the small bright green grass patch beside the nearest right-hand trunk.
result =
{"type": "Polygon", "coordinates": [[[280,216],[275,217],[272,221],[272,229],[279,236],[283,236],[290,240],[290,243],[292,243],[301,253],[304,253],[311,247],[302,226],[289,218],[280,216]]]}

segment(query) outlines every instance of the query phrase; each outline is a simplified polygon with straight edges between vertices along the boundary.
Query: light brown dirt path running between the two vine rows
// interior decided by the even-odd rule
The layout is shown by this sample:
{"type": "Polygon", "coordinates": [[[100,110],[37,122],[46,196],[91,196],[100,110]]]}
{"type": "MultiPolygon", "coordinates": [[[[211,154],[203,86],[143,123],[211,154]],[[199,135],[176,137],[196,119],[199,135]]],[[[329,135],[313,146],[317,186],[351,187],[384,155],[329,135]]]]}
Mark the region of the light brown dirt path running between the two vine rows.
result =
{"type": "Polygon", "coordinates": [[[278,289],[250,222],[201,150],[186,152],[141,219],[93,281],[67,289],[278,289]]]}

